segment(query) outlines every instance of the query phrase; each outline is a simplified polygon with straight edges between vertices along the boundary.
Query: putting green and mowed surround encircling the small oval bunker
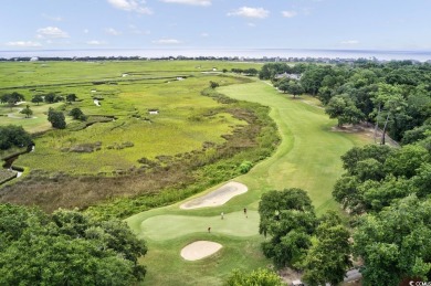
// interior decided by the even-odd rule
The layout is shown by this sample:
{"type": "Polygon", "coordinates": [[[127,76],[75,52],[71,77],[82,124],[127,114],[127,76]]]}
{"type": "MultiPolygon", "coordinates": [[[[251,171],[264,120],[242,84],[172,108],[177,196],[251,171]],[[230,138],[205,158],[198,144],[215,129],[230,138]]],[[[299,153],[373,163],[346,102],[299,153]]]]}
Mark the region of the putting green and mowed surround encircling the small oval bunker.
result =
{"type": "Polygon", "coordinates": [[[242,209],[224,212],[221,220],[224,206],[180,210],[179,204],[127,219],[148,245],[147,255],[140,259],[147,266],[143,285],[221,285],[233,268],[252,269],[270,264],[259,251],[264,237],[259,235],[257,212],[249,211],[249,218],[242,209]],[[201,240],[218,242],[223,247],[200,261],[189,262],[180,256],[185,246],[201,240]]]}

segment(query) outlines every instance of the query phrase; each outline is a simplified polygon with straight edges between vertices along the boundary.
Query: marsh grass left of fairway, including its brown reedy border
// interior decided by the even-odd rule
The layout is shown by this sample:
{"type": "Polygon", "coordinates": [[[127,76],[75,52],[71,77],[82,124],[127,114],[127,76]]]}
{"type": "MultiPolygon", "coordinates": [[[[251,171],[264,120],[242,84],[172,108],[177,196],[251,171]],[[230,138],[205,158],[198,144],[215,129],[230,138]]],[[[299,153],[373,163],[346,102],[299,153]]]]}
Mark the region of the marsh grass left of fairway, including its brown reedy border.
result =
{"type": "MultiPolygon", "coordinates": [[[[71,68],[75,64],[49,62],[43,71],[50,65],[71,68]]],[[[102,81],[115,77],[109,72],[112,63],[93,64],[77,65],[83,68],[83,81],[96,85],[74,85],[81,77],[71,68],[67,78],[59,75],[33,88],[33,93],[75,93],[77,102],[56,108],[67,113],[80,107],[94,123],[70,121],[64,130],[38,136],[36,151],[17,161],[31,171],[4,187],[1,201],[38,204],[46,211],[93,205],[91,211],[99,216],[125,218],[177,202],[238,176],[242,161],[254,163],[275,148],[277,134],[265,127],[271,126],[267,108],[206,89],[209,81],[222,85],[250,82],[246,77],[201,73],[232,63],[115,63],[118,76],[124,71],[127,77],[151,77],[147,82],[117,78],[117,84],[102,81]],[[84,76],[85,65],[93,64],[93,73],[103,66],[98,80],[93,74],[84,76]],[[146,72],[134,74],[132,68],[146,72]],[[178,72],[192,76],[172,82],[153,80],[174,77],[178,72]],[[202,89],[206,92],[201,94],[202,89]],[[94,98],[102,106],[96,106],[94,98]],[[149,115],[149,109],[158,109],[159,114],[149,115]],[[269,146],[262,138],[270,138],[269,146]]]]}

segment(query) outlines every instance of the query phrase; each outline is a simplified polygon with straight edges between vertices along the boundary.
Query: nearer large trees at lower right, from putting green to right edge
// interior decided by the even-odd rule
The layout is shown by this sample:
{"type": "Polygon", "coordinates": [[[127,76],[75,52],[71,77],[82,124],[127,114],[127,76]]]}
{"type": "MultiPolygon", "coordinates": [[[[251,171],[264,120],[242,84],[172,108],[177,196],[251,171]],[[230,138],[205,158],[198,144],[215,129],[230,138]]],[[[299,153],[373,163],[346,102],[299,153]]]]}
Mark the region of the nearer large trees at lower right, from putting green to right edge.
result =
{"type": "MultiPolygon", "coordinates": [[[[355,147],[341,161],[346,172],[333,195],[348,221],[334,211],[317,218],[304,190],[265,192],[259,204],[263,254],[276,268],[303,272],[312,286],[341,283],[353,257],[361,262],[362,285],[431,280],[431,133],[398,149],[355,147]]],[[[234,272],[230,279],[250,275],[234,272]]]]}

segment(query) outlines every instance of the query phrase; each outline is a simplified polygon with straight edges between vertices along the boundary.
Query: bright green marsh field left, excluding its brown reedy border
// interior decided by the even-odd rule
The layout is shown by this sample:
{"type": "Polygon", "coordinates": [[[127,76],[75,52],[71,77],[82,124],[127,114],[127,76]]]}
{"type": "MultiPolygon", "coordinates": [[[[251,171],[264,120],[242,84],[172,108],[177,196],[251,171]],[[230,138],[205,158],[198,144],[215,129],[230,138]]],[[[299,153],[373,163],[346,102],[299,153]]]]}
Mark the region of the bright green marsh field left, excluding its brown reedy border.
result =
{"type": "Polygon", "coordinates": [[[220,144],[221,135],[231,134],[243,121],[217,110],[220,104],[200,92],[210,81],[220,80],[216,70],[256,64],[222,62],[3,62],[0,63],[0,94],[17,91],[27,103],[0,105],[0,125],[21,125],[30,133],[51,129],[49,107],[69,113],[80,107],[88,116],[109,116],[116,120],[97,123],[80,129],[80,123],[67,117],[65,130],[49,131],[35,139],[36,151],[22,156],[17,165],[29,169],[70,174],[112,174],[139,168],[138,160],[175,156],[200,149],[203,142],[220,144]],[[203,73],[207,72],[207,73],[203,73]],[[34,94],[74,93],[73,104],[32,104],[34,94]],[[98,98],[101,106],[94,104],[98,98]],[[19,110],[29,104],[32,118],[19,110]],[[149,115],[158,109],[158,115],[149,115]],[[80,152],[81,147],[97,145],[96,151],[80,152]],[[127,146],[127,148],[122,148],[127,146]]]}

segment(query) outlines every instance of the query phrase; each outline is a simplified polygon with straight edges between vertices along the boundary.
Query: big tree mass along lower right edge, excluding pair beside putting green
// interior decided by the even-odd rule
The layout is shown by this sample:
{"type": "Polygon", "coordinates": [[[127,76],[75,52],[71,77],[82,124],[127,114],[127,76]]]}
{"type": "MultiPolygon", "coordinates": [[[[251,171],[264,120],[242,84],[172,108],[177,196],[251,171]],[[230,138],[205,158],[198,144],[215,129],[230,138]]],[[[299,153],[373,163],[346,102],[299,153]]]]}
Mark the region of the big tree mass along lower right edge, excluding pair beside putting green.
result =
{"type": "Polygon", "coordinates": [[[430,136],[399,149],[354,148],[335,199],[350,212],[364,285],[431,279],[430,136]]]}

